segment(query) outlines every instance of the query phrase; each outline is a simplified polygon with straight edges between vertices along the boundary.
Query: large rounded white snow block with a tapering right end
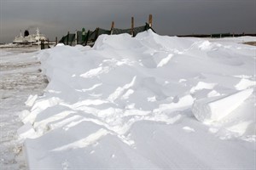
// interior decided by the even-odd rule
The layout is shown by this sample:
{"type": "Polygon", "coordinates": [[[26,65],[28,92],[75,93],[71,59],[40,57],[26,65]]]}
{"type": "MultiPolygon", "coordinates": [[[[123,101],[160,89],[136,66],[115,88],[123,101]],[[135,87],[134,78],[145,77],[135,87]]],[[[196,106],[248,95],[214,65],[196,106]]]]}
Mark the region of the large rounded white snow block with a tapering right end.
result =
{"type": "Polygon", "coordinates": [[[236,110],[251,94],[253,94],[253,88],[235,94],[198,99],[192,105],[192,112],[200,122],[217,122],[236,110]]]}

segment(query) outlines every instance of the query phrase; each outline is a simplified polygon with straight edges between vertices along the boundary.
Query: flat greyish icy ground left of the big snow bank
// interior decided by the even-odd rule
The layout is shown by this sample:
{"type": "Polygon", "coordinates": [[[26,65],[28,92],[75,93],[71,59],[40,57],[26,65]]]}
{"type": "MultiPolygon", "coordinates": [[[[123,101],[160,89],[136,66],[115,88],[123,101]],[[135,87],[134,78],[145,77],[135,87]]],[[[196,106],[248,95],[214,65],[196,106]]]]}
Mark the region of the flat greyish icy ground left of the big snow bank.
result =
{"type": "Polygon", "coordinates": [[[23,124],[19,114],[27,108],[26,99],[31,94],[43,94],[47,85],[35,57],[38,50],[9,44],[0,48],[1,169],[27,169],[17,129],[23,124]]]}

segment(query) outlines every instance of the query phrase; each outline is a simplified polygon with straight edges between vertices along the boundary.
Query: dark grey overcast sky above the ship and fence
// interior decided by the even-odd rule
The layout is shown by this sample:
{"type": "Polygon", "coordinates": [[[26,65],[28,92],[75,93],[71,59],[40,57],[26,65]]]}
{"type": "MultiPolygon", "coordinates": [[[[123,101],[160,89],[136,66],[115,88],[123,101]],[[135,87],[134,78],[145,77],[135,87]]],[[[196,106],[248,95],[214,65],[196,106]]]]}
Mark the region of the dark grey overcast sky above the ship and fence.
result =
{"type": "Polygon", "coordinates": [[[160,35],[256,33],[256,0],[0,0],[0,42],[36,27],[49,40],[84,27],[129,28],[148,22],[160,35]]]}

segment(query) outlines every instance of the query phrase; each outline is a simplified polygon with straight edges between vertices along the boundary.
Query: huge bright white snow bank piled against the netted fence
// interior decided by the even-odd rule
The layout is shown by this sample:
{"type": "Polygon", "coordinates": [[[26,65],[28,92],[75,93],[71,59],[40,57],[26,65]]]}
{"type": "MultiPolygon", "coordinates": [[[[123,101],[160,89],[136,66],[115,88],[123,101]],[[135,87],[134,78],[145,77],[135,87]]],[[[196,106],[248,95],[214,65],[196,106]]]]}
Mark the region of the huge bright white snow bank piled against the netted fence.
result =
{"type": "Polygon", "coordinates": [[[255,168],[252,40],[145,31],[42,51],[49,85],[20,114],[28,167],[255,168]]]}

